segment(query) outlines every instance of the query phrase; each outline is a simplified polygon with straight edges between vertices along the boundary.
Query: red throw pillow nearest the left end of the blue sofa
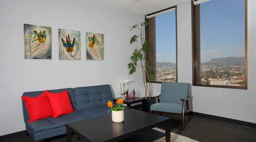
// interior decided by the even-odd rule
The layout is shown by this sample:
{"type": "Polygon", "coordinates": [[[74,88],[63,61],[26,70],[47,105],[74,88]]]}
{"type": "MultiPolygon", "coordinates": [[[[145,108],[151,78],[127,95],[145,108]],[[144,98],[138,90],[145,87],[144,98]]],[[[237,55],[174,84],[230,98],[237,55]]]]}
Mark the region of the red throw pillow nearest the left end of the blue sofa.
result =
{"type": "Polygon", "coordinates": [[[48,118],[53,115],[52,107],[47,95],[48,93],[49,91],[47,90],[37,97],[21,96],[21,99],[25,102],[30,118],[28,123],[38,119],[48,118]]]}

